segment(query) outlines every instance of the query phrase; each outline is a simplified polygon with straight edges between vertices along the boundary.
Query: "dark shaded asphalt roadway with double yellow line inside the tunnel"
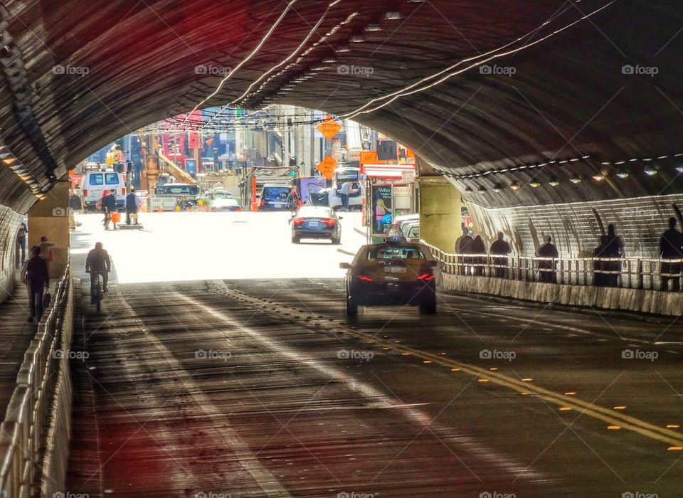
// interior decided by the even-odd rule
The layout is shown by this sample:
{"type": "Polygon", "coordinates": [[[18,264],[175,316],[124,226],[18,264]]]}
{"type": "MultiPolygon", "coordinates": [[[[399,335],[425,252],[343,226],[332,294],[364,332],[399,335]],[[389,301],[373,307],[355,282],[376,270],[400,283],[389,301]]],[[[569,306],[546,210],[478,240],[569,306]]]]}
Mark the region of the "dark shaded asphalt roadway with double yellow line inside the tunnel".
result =
{"type": "MultiPolygon", "coordinates": [[[[682,494],[677,322],[451,295],[434,316],[390,307],[347,319],[342,280],[314,275],[318,261],[297,260],[299,278],[260,266],[255,280],[159,282],[140,266],[137,282],[113,279],[100,316],[81,296],[70,491],[682,494]]],[[[128,275],[129,259],[115,263],[128,275]]]]}

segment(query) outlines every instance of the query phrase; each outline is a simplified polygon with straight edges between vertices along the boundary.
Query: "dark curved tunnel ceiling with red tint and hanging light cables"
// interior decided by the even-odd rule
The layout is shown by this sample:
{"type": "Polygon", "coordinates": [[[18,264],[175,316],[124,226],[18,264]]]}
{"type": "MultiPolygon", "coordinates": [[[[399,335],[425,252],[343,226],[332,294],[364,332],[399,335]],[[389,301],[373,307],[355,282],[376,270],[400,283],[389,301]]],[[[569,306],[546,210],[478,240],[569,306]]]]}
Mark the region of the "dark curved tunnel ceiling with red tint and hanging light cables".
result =
{"type": "Polygon", "coordinates": [[[0,133],[23,166],[0,170],[0,202],[19,211],[123,134],[230,102],[354,117],[485,206],[683,186],[679,1],[22,0],[0,14],[0,133]]]}

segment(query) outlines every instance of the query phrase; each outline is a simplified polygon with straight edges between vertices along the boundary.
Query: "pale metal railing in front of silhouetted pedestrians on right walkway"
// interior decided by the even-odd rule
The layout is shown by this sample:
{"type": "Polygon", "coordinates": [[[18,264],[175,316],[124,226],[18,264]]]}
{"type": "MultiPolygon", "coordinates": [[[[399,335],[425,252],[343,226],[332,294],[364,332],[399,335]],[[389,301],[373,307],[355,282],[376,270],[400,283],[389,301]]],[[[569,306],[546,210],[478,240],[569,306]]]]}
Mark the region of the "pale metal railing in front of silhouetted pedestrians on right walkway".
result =
{"type": "Polygon", "coordinates": [[[662,288],[662,277],[683,277],[683,259],[539,258],[457,254],[446,253],[424,240],[420,243],[427,246],[433,257],[440,262],[441,271],[451,275],[650,290],[662,288]]]}

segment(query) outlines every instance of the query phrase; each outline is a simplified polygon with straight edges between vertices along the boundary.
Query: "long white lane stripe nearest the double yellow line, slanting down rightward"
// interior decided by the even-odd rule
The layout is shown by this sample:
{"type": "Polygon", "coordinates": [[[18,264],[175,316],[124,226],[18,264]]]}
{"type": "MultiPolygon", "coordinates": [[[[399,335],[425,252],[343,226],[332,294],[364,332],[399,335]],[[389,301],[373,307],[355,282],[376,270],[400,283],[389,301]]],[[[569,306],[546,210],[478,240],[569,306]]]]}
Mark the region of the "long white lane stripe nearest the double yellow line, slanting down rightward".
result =
{"type": "MultiPolygon", "coordinates": [[[[221,287],[228,291],[228,287],[222,281],[212,281],[211,284],[215,284],[218,287],[221,287]]],[[[406,407],[406,405],[398,401],[393,401],[391,396],[384,393],[383,391],[379,391],[370,384],[361,382],[356,378],[348,376],[346,375],[346,373],[334,369],[327,364],[322,364],[319,361],[319,359],[307,356],[307,354],[305,354],[304,351],[292,349],[289,346],[282,344],[280,341],[275,341],[274,339],[266,337],[264,334],[254,329],[251,329],[250,327],[245,327],[243,326],[243,324],[240,324],[239,322],[235,321],[235,319],[228,316],[227,314],[218,312],[216,311],[216,309],[213,309],[212,307],[208,307],[206,304],[198,302],[193,297],[181,295],[179,293],[177,294],[177,296],[183,300],[186,300],[187,302],[190,302],[191,304],[194,304],[194,306],[203,309],[206,313],[211,314],[216,319],[219,319],[223,322],[227,322],[228,324],[231,324],[232,327],[237,327],[238,329],[240,329],[241,332],[249,334],[250,337],[253,337],[253,339],[259,341],[261,344],[266,346],[271,351],[275,351],[278,354],[287,356],[293,361],[297,361],[300,363],[305,362],[307,366],[311,366],[315,370],[319,371],[319,373],[322,373],[323,376],[327,378],[333,378],[335,381],[346,384],[349,390],[360,392],[363,396],[365,396],[366,398],[370,398],[370,400],[375,403],[378,399],[388,400],[387,402],[391,404],[392,408],[401,408],[401,413],[407,415],[407,418],[411,420],[413,423],[419,425],[420,427],[423,427],[425,425],[434,426],[435,433],[437,434],[450,434],[450,436],[448,436],[448,439],[455,440],[457,444],[464,447],[465,450],[467,450],[468,452],[471,452],[473,455],[477,455],[477,457],[479,457],[481,460],[485,462],[488,462],[489,464],[497,465],[497,467],[504,470],[504,472],[516,475],[517,477],[524,477],[529,480],[549,480],[549,477],[541,475],[539,472],[534,472],[533,470],[530,470],[524,464],[512,461],[511,457],[505,457],[501,455],[499,451],[494,451],[485,448],[480,440],[457,433],[455,430],[453,430],[453,428],[446,427],[445,425],[441,425],[439,423],[431,423],[431,416],[428,413],[422,410],[416,410],[415,408],[406,407]]]]}

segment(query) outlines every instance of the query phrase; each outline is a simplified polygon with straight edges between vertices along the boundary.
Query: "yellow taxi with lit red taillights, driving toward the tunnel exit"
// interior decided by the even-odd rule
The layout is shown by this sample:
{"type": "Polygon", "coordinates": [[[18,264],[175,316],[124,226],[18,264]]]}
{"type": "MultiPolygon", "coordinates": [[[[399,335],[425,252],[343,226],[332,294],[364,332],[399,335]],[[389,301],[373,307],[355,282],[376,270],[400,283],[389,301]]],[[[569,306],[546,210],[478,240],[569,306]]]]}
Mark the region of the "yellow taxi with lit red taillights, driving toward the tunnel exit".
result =
{"type": "Polygon", "coordinates": [[[408,243],[403,236],[364,245],[351,263],[339,263],[346,272],[346,314],[359,306],[417,306],[421,313],[436,312],[434,269],[428,250],[408,243]]]}

